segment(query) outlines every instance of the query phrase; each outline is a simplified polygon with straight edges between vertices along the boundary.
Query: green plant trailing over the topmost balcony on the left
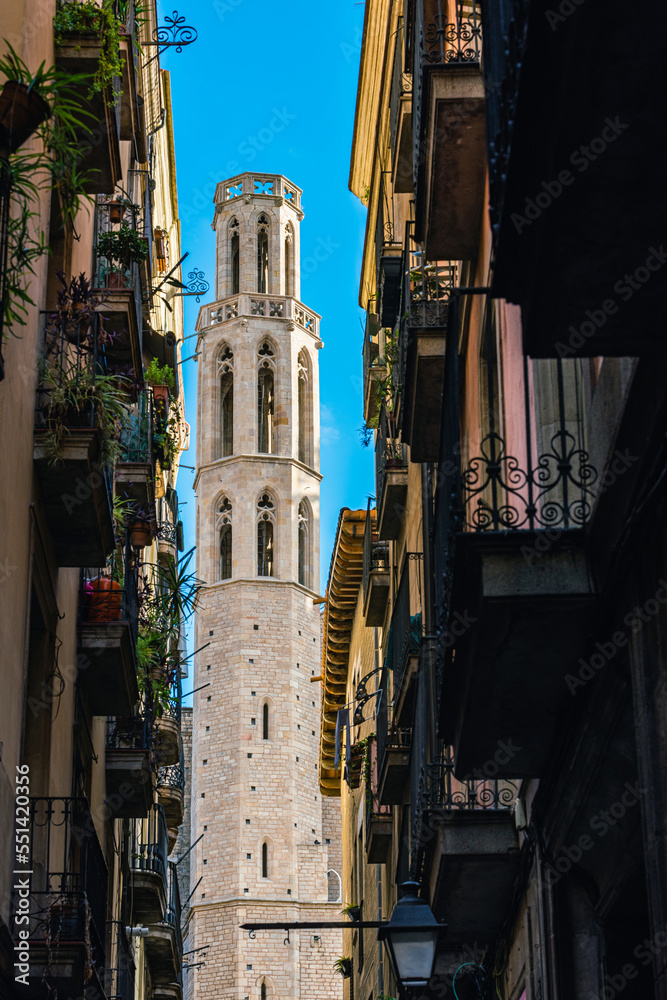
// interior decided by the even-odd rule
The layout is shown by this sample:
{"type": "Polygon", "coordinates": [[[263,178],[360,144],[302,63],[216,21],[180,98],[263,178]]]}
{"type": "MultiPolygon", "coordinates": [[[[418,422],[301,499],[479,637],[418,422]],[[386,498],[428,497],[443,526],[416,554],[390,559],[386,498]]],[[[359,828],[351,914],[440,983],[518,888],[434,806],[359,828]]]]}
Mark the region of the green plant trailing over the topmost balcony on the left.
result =
{"type": "MultiPolygon", "coordinates": [[[[125,18],[123,18],[125,20],[125,18]]],[[[53,19],[56,45],[62,45],[66,35],[94,32],[101,38],[100,57],[92,78],[89,96],[102,94],[109,106],[118,102],[119,93],[112,89],[114,78],[122,76],[120,57],[121,22],[116,17],[111,0],[57,0],[53,19]]]]}

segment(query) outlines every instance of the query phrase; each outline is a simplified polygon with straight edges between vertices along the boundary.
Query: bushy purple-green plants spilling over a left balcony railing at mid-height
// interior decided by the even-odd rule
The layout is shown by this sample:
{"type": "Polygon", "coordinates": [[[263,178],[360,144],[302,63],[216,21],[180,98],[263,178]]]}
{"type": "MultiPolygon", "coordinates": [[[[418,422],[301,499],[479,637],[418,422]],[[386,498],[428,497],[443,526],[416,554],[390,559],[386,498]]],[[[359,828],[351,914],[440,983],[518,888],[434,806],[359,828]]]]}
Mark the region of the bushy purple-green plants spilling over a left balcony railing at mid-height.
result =
{"type": "Polygon", "coordinates": [[[41,365],[42,405],[46,434],[44,446],[52,465],[63,461],[66,439],[74,427],[94,424],[100,431],[99,459],[113,465],[119,454],[118,435],[127,411],[125,379],[96,374],[92,366],[41,365]]]}

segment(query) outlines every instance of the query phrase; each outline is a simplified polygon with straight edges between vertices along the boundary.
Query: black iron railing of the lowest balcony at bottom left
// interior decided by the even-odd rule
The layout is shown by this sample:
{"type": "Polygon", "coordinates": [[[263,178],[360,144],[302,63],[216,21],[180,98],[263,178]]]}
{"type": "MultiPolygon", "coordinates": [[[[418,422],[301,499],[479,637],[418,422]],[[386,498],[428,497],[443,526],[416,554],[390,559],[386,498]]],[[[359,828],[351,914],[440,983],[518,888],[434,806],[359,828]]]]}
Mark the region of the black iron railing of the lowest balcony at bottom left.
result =
{"type": "MultiPolygon", "coordinates": [[[[87,799],[31,798],[30,939],[89,942],[87,961],[105,967],[107,866],[87,799]]],[[[18,903],[18,900],[17,900],[18,903]]],[[[23,904],[22,904],[23,905],[23,904]]],[[[48,970],[45,972],[48,975],[48,970]]]]}

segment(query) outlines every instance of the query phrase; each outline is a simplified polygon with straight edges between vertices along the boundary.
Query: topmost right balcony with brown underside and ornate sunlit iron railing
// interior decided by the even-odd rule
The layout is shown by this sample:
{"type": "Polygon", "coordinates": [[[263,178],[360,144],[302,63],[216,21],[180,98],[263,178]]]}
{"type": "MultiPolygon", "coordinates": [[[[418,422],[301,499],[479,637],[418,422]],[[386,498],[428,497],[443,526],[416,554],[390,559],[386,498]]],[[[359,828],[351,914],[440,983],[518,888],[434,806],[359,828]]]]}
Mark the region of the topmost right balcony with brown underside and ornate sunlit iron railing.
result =
{"type": "Polygon", "coordinates": [[[410,28],[416,236],[428,260],[473,260],[486,180],[479,5],[416,0],[410,28]]]}

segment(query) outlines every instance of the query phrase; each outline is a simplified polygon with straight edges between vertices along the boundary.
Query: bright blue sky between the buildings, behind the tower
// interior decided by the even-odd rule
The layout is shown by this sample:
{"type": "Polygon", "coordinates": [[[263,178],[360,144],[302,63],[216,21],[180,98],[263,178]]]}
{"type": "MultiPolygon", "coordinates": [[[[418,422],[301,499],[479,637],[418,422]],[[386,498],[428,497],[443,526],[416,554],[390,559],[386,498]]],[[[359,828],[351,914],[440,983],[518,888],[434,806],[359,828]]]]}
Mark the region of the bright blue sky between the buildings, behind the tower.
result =
{"type": "MultiPolygon", "coordinates": [[[[159,6],[161,20],[173,11],[164,0],[159,6]]],[[[363,413],[357,303],[366,209],[347,187],[364,6],[352,0],[333,6],[312,0],[186,0],[178,12],[199,33],[180,54],[170,49],[162,57],[171,71],[186,264],[212,282],[217,181],[244,170],[282,173],[304,192],[301,298],[322,315],[325,345],[319,352],[323,591],[338,512],[365,506],[373,491],[372,451],[361,447],[358,435],[363,413]]],[[[194,332],[198,308],[185,299],[186,336],[194,332]]],[[[184,356],[195,343],[187,342],[191,350],[184,356]]],[[[196,434],[196,363],[186,362],[183,374],[186,416],[196,434]]],[[[194,465],[194,442],[183,461],[194,465]]],[[[187,501],[181,509],[188,547],[194,544],[193,476],[182,469],[178,479],[179,499],[187,501]]]]}

